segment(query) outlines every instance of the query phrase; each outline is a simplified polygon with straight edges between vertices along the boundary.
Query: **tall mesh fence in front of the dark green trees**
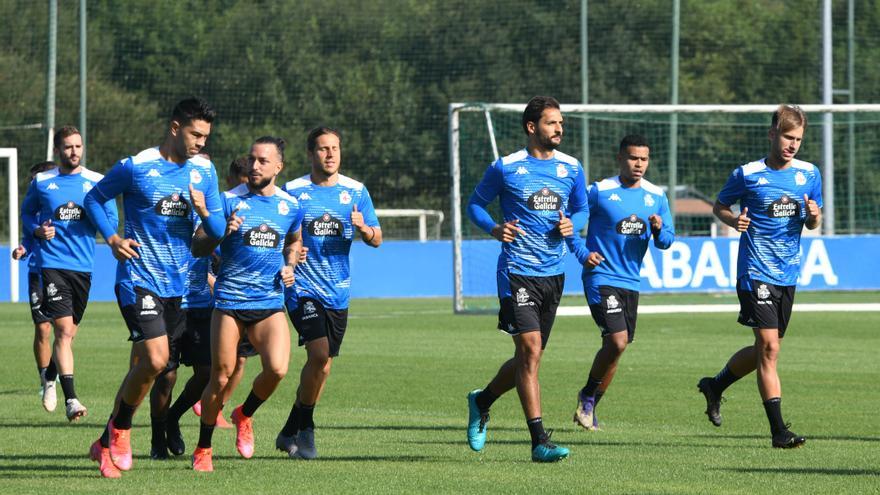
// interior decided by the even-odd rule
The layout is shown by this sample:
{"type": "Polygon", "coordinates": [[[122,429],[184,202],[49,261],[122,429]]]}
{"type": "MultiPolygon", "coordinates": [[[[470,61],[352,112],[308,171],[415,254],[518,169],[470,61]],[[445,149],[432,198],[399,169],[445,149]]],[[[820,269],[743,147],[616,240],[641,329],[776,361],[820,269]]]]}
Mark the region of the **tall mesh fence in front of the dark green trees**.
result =
{"type": "MultiPolygon", "coordinates": [[[[681,3],[681,103],[819,102],[820,0],[681,3]]],[[[856,102],[880,100],[875,3],[854,2],[856,102]]],[[[219,111],[207,151],[221,175],[264,134],[290,143],[282,179],[302,175],[306,133],[327,124],[343,133],[343,173],[365,182],[378,208],[441,210],[448,219],[448,104],[524,102],[535,94],[582,101],[580,8],[579,0],[154,0],[136,7],[92,0],[87,165],[104,172],[119,158],[158,144],[175,101],[197,94],[219,111]]],[[[846,87],[850,75],[843,62],[846,8],[846,2],[834,4],[836,88],[846,87]]],[[[0,0],[0,147],[19,149],[22,195],[24,171],[46,155],[45,129],[21,126],[46,120],[47,18],[47,1],[0,0]]],[[[78,2],[59,1],[59,126],[79,121],[78,23],[78,2]]],[[[669,101],[672,0],[642,0],[637,7],[625,0],[589,2],[587,27],[590,103],[669,101]]],[[[837,102],[846,101],[841,96],[837,102]]],[[[591,180],[608,173],[609,150],[629,125],[619,120],[607,136],[597,128],[591,137],[591,180]]],[[[664,124],[651,126],[657,158],[664,153],[664,124]]],[[[577,123],[568,132],[577,132],[577,123]]],[[[732,150],[745,153],[740,140],[763,142],[751,132],[682,134],[680,142],[727,139],[732,150]]],[[[519,146],[520,136],[511,136],[516,142],[506,149],[519,146]]],[[[812,154],[818,142],[808,137],[804,158],[818,160],[812,154]]],[[[487,149],[477,143],[485,141],[474,143],[471,158],[482,169],[487,149]]],[[[567,144],[577,154],[574,143],[567,144]]],[[[687,168],[710,157],[700,154],[703,147],[689,146],[695,151],[692,158],[680,157],[680,183],[713,193],[717,177],[687,168]]],[[[741,157],[711,158],[723,175],[741,157]]],[[[662,164],[655,165],[652,178],[662,182],[662,164]]],[[[844,187],[846,180],[837,183],[844,187]]],[[[838,200],[845,197],[838,194],[838,200]]],[[[861,208],[877,210],[876,195],[865,201],[861,208]]],[[[5,211],[5,196],[0,207],[5,211]]],[[[412,219],[389,222],[389,238],[415,236],[406,226],[412,219]]],[[[848,226],[845,216],[838,226],[840,232],[878,230],[876,223],[848,226]]],[[[4,229],[0,222],[2,236],[4,229]]]]}

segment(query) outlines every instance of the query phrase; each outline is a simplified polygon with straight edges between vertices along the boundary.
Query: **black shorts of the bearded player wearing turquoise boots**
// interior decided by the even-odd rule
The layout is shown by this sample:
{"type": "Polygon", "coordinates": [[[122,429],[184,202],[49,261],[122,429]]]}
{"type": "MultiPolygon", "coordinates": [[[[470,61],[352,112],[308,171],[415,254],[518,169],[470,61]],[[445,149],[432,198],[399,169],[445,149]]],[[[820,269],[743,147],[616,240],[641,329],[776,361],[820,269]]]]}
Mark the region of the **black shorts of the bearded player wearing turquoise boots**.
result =
{"type": "Polygon", "coordinates": [[[501,298],[498,329],[509,335],[538,330],[541,332],[541,349],[544,349],[556,319],[565,275],[529,277],[511,273],[508,281],[511,295],[501,298]]]}

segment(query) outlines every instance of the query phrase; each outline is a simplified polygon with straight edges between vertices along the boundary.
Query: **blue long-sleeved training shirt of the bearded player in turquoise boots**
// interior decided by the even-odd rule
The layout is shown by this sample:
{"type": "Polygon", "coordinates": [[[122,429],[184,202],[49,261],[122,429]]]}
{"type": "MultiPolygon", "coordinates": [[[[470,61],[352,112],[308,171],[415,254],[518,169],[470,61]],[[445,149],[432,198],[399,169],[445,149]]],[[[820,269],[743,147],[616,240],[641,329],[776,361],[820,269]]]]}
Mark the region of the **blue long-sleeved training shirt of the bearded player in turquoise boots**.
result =
{"type": "MultiPolygon", "coordinates": [[[[468,204],[471,220],[486,232],[491,232],[494,222],[485,218],[485,207],[496,197],[503,222],[519,219],[517,226],[526,233],[501,243],[498,271],[534,277],[563,273],[568,248],[556,228],[559,211],[571,216],[589,211],[580,162],[560,151],[540,160],[525,149],[496,160],[468,204]]],[[[576,232],[579,227],[575,225],[576,232]]]]}

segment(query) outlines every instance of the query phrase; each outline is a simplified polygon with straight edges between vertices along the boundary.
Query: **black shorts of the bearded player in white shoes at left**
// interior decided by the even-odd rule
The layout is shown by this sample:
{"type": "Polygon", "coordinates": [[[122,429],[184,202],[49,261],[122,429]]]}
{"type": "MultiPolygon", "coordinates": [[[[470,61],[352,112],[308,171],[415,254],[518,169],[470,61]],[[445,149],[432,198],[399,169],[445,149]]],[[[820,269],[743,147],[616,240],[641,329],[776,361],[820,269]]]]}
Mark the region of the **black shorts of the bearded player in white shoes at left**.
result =
{"type": "Polygon", "coordinates": [[[59,270],[43,269],[43,314],[53,320],[72,316],[73,323],[79,325],[82,315],[89,304],[89,288],[92,286],[92,274],[59,270]]]}

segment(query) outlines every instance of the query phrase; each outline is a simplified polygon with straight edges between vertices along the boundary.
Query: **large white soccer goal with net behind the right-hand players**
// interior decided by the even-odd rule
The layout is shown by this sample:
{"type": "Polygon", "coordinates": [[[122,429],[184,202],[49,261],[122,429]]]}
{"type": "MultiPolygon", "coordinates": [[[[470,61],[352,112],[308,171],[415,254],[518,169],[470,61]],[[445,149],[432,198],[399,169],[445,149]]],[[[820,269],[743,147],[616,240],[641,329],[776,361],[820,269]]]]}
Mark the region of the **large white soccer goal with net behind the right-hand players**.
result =
{"type": "MultiPolygon", "coordinates": [[[[463,216],[486,167],[525,146],[525,103],[449,105],[451,221],[456,312],[497,309],[500,246],[463,216]]],[[[651,143],[646,178],[666,190],[679,236],[719,234],[715,195],[737,166],[763,157],[777,105],[562,105],[560,150],[578,157],[589,182],[617,175],[626,134],[651,143]],[[586,159],[584,159],[586,157],[586,159]]],[[[808,126],[798,158],[822,170],[823,234],[880,232],[880,105],[801,105],[808,126]]],[[[490,210],[500,219],[497,201],[490,210]]],[[[723,233],[723,232],[722,232],[723,233]]],[[[566,282],[581,294],[580,280],[566,282]]]]}

